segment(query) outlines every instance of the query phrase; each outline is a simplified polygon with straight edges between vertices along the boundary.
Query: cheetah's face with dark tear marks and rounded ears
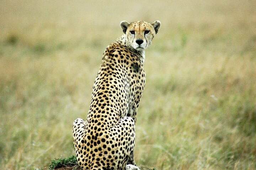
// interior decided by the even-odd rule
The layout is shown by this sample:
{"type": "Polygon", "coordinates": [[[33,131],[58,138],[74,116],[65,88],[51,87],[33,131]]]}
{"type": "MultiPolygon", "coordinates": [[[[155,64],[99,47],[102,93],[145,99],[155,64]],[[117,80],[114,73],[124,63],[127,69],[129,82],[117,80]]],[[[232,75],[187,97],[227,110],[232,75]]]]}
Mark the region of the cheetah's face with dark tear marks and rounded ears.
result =
{"type": "Polygon", "coordinates": [[[158,33],[161,23],[160,21],[155,21],[151,24],[145,21],[133,23],[122,21],[120,25],[126,34],[126,45],[142,51],[151,44],[155,34],[158,33]]]}

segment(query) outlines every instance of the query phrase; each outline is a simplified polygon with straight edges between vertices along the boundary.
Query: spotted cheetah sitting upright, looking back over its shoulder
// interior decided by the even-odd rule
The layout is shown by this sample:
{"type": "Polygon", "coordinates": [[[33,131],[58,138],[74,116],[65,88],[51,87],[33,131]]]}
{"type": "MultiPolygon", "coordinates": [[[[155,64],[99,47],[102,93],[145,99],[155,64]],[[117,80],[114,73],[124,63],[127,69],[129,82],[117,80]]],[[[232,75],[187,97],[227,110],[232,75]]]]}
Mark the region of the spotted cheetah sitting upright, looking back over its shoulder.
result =
{"type": "Polygon", "coordinates": [[[122,21],[120,25],[124,34],[103,53],[87,119],[73,123],[75,154],[82,170],[139,170],[133,149],[145,86],[144,50],[161,23],[122,21]]]}

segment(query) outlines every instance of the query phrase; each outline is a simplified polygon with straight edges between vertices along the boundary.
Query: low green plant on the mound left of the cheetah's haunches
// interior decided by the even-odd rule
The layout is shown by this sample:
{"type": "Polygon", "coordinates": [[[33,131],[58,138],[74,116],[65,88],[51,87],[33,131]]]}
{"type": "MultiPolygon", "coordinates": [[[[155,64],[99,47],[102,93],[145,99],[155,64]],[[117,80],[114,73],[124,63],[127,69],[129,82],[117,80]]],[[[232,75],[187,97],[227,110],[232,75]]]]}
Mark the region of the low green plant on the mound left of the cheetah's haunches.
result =
{"type": "Polygon", "coordinates": [[[73,155],[69,158],[60,158],[52,160],[51,164],[49,165],[49,170],[54,170],[63,167],[77,169],[77,166],[78,162],[76,160],[76,157],[73,155]]]}

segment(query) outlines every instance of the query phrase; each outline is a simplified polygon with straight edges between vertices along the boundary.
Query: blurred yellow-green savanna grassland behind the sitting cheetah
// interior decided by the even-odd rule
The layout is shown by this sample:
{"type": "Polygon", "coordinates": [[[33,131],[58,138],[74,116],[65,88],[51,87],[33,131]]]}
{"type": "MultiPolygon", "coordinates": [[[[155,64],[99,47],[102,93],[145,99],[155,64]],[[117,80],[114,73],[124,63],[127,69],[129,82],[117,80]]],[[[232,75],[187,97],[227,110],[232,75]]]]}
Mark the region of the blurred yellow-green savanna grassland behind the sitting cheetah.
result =
{"type": "Polygon", "coordinates": [[[2,1],[0,169],[74,155],[119,23],[160,20],[145,51],[135,161],[157,170],[256,169],[256,2],[2,1]]]}

